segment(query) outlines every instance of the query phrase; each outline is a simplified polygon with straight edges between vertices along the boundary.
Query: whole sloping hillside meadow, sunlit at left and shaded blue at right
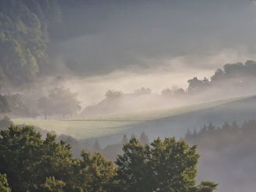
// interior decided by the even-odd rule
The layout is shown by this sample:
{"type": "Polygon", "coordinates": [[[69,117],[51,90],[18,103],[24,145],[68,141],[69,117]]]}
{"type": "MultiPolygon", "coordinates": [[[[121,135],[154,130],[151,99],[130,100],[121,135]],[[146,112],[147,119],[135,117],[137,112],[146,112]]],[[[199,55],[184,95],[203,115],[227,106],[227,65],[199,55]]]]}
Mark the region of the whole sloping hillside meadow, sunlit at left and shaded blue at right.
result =
{"type": "Polygon", "coordinates": [[[225,121],[238,122],[256,118],[256,96],[227,99],[187,107],[152,110],[122,115],[108,115],[86,120],[26,120],[14,119],[17,124],[39,126],[57,134],[67,134],[75,139],[94,141],[99,139],[102,145],[119,142],[123,134],[141,134],[148,137],[183,137],[187,129],[225,121]]]}

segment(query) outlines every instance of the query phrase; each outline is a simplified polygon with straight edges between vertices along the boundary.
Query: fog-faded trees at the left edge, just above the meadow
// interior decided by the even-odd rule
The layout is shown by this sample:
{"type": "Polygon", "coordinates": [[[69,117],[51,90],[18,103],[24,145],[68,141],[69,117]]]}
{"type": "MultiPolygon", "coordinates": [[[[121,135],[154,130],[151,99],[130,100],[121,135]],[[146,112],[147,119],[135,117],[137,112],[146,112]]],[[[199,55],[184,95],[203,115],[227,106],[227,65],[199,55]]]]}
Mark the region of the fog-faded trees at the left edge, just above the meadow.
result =
{"type": "Polygon", "coordinates": [[[45,96],[38,98],[23,93],[3,94],[0,95],[0,115],[19,118],[72,118],[81,109],[77,96],[78,93],[72,93],[63,87],[50,89],[45,96]]]}

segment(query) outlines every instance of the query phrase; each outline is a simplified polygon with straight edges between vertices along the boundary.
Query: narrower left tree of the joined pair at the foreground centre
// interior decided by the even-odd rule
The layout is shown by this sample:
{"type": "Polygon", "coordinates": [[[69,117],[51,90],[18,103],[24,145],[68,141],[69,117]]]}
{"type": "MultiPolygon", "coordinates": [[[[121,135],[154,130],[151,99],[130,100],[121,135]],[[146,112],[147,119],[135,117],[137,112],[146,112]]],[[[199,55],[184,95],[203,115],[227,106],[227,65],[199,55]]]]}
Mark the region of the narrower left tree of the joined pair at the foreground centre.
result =
{"type": "Polygon", "coordinates": [[[123,147],[124,154],[116,159],[118,185],[116,191],[154,191],[148,159],[148,145],[140,145],[135,137],[123,147]]]}

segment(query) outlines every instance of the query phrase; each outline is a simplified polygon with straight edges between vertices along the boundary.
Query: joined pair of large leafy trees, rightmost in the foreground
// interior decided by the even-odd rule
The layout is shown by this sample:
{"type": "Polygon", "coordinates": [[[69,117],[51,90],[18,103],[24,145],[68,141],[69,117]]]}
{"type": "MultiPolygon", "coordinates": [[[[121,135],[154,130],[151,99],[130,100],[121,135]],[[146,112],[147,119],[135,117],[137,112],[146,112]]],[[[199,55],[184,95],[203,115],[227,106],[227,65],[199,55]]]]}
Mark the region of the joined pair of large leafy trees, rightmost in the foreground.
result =
{"type": "MultiPolygon", "coordinates": [[[[196,146],[173,138],[155,139],[150,145],[141,145],[136,138],[124,145],[118,155],[118,191],[177,191],[192,192],[206,189],[195,185],[199,155],[196,146]]],[[[211,183],[210,183],[211,184],[211,183]]],[[[207,185],[214,191],[216,185],[207,185]]]]}

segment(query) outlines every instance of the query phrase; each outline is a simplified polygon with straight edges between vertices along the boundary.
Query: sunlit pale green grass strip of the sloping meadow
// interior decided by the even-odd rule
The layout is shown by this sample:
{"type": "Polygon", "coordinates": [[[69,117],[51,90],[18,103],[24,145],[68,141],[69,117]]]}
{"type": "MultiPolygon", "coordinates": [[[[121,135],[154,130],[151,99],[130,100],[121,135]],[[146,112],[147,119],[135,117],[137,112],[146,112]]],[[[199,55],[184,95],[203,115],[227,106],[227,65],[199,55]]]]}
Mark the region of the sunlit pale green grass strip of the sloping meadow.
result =
{"type": "MultiPolygon", "coordinates": [[[[240,98],[241,99],[241,98],[240,98]]],[[[137,112],[132,114],[108,115],[85,120],[33,120],[12,119],[15,124],[26,124],[37,126],[47,131],[55,131],[56,134],[67,134],[75,139],[91,139],[105,135],[124,132],[129,126],[146,121],[157,120],[187,112],[203,110],[210,107],[222,105],[238,99],[214,101],[203,104],[194,104],[187,107],[176,107],[173,109],[162,109],[154,111],[137,112]]]]}

